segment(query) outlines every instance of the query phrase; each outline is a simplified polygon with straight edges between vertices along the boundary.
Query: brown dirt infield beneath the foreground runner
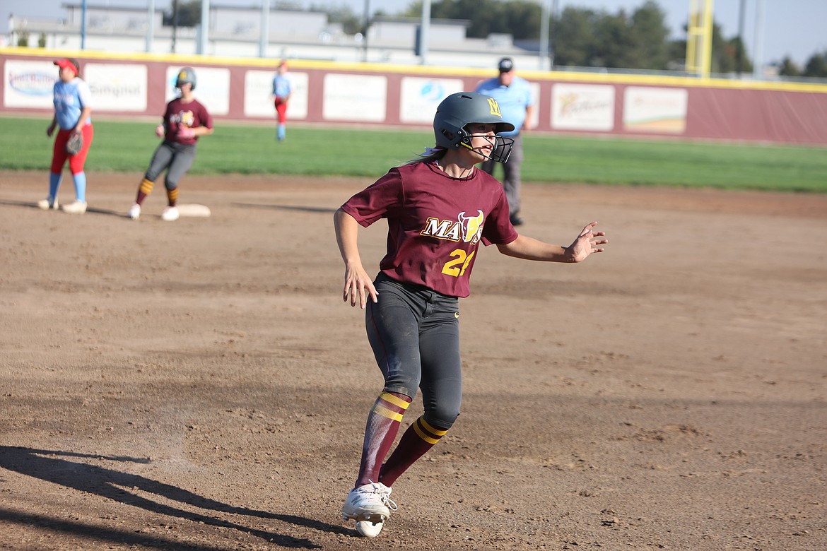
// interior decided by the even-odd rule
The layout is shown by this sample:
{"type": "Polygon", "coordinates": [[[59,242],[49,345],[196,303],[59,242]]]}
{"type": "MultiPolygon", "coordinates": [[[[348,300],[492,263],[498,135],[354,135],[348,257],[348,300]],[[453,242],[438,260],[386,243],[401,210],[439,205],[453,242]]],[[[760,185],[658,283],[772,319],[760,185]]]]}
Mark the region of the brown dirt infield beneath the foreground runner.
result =
{"type": "Polygon", "coordinates": [[[213,216],[170,223],[139,179],[78,216],[0,173],[0,549],[827,549],[827,196],[527,185],[523,233],[609,250],[480,252],[462,415],[361,539],[332,212],[370,182],[189,176],[213,216]]]}

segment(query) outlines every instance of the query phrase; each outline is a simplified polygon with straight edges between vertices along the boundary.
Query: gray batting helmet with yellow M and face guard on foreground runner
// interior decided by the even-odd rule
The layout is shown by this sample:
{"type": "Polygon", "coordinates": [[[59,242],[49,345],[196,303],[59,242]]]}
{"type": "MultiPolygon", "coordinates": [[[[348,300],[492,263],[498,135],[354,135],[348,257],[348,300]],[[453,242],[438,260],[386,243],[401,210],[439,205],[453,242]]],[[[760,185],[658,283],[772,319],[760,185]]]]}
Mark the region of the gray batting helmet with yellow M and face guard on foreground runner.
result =
{"type": "MultiPolygon", "coordinates": [[[[471,132],[466,126],[472,122],[495,125],[495,133],[510,132],[514,125],[503,121],[500,105],[493,97],[476,92],[453,93],[442,100],[433,117],[433,135],[437,145],[456,150],[460,145],[471,147],[471,132]]],[[[504,163],[511,153],[514,140],[497,136],[497,147],[491,159],[504,163]]]]}

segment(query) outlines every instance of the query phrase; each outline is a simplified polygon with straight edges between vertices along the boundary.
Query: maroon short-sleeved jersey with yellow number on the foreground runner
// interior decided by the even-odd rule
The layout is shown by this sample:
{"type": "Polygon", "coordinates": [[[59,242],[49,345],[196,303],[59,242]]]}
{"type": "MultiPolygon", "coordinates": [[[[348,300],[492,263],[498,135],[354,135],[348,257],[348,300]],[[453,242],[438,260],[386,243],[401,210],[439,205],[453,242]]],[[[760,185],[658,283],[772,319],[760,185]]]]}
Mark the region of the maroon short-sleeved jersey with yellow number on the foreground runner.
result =
{"type": "Polygon", "coordinates": [[[476,168],[467,178],[433,163],[390,169],[342,210],[365,227],[388,219],[388,252],[379,264],[388,277],[451,297],[470,294],[480,240],[508,244],[518,236],[502,186],[476,168]]]}

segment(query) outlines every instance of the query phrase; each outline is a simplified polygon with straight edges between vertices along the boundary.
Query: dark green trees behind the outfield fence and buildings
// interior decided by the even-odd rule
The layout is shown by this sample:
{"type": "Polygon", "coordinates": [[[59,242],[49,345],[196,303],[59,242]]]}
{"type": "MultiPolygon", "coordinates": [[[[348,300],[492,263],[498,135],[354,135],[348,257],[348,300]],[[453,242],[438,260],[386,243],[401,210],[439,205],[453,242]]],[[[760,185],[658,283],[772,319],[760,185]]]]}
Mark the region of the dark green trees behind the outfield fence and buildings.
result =
{"type": "MultiPolygon", "coordinates": [[[[275,7],[297,9],[290,2],[275,2],[275,7]]],[[[366,31],[364,17],[348,7],[312,6],[309,10],[327,12],[329,20],[342,24],[348,34],[366,31]]],[[[421,17],[422,2],[411,2],[398,14],[375,10],[371,17],[390,15],[421,17]]],[[[469,21],[466,31],[469,38],[501,33],[513,36],[515,44],[536,44],[540,39],[543,11],[536,0],[437,0],[431,4],[431,17],[469,21]]],[[[177,21],[179,26],[195,26],[200,18],[201,0],[174,0],[165,12],[164,24],[171,26],[177,21]]],[[[654,0],[646,0],[632,12],[566,7],[560,13],[549,14],[548,54],[557,68],[681,70],[686,61],[686,40],[671,40],[666,20],[666,12],[654,0]]],[[[783,76],[827,78],[827,50],[814,53],[803,68],[789,57],[777,64],[783,76]]],[[[753,61],[742,38],[724,36],[715,22],[710,71],[715,74],[753,71],[753,61]]]]}

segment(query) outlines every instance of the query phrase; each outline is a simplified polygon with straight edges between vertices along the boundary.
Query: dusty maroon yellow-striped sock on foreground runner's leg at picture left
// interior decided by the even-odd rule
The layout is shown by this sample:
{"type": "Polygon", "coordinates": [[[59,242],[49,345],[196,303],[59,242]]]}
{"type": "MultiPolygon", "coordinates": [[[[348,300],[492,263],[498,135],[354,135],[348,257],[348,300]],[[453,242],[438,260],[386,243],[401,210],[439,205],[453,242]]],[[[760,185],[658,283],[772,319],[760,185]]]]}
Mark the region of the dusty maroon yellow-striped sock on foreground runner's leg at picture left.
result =
{"type": "Polygon", "coordinates": [[[382,392],[367,416],[365,442],[359,463],[359,477],[356,486],[379,482],[379,470],[390,446],[394,444],[399,424],[411,398],[398,392],[382,392]]]}

